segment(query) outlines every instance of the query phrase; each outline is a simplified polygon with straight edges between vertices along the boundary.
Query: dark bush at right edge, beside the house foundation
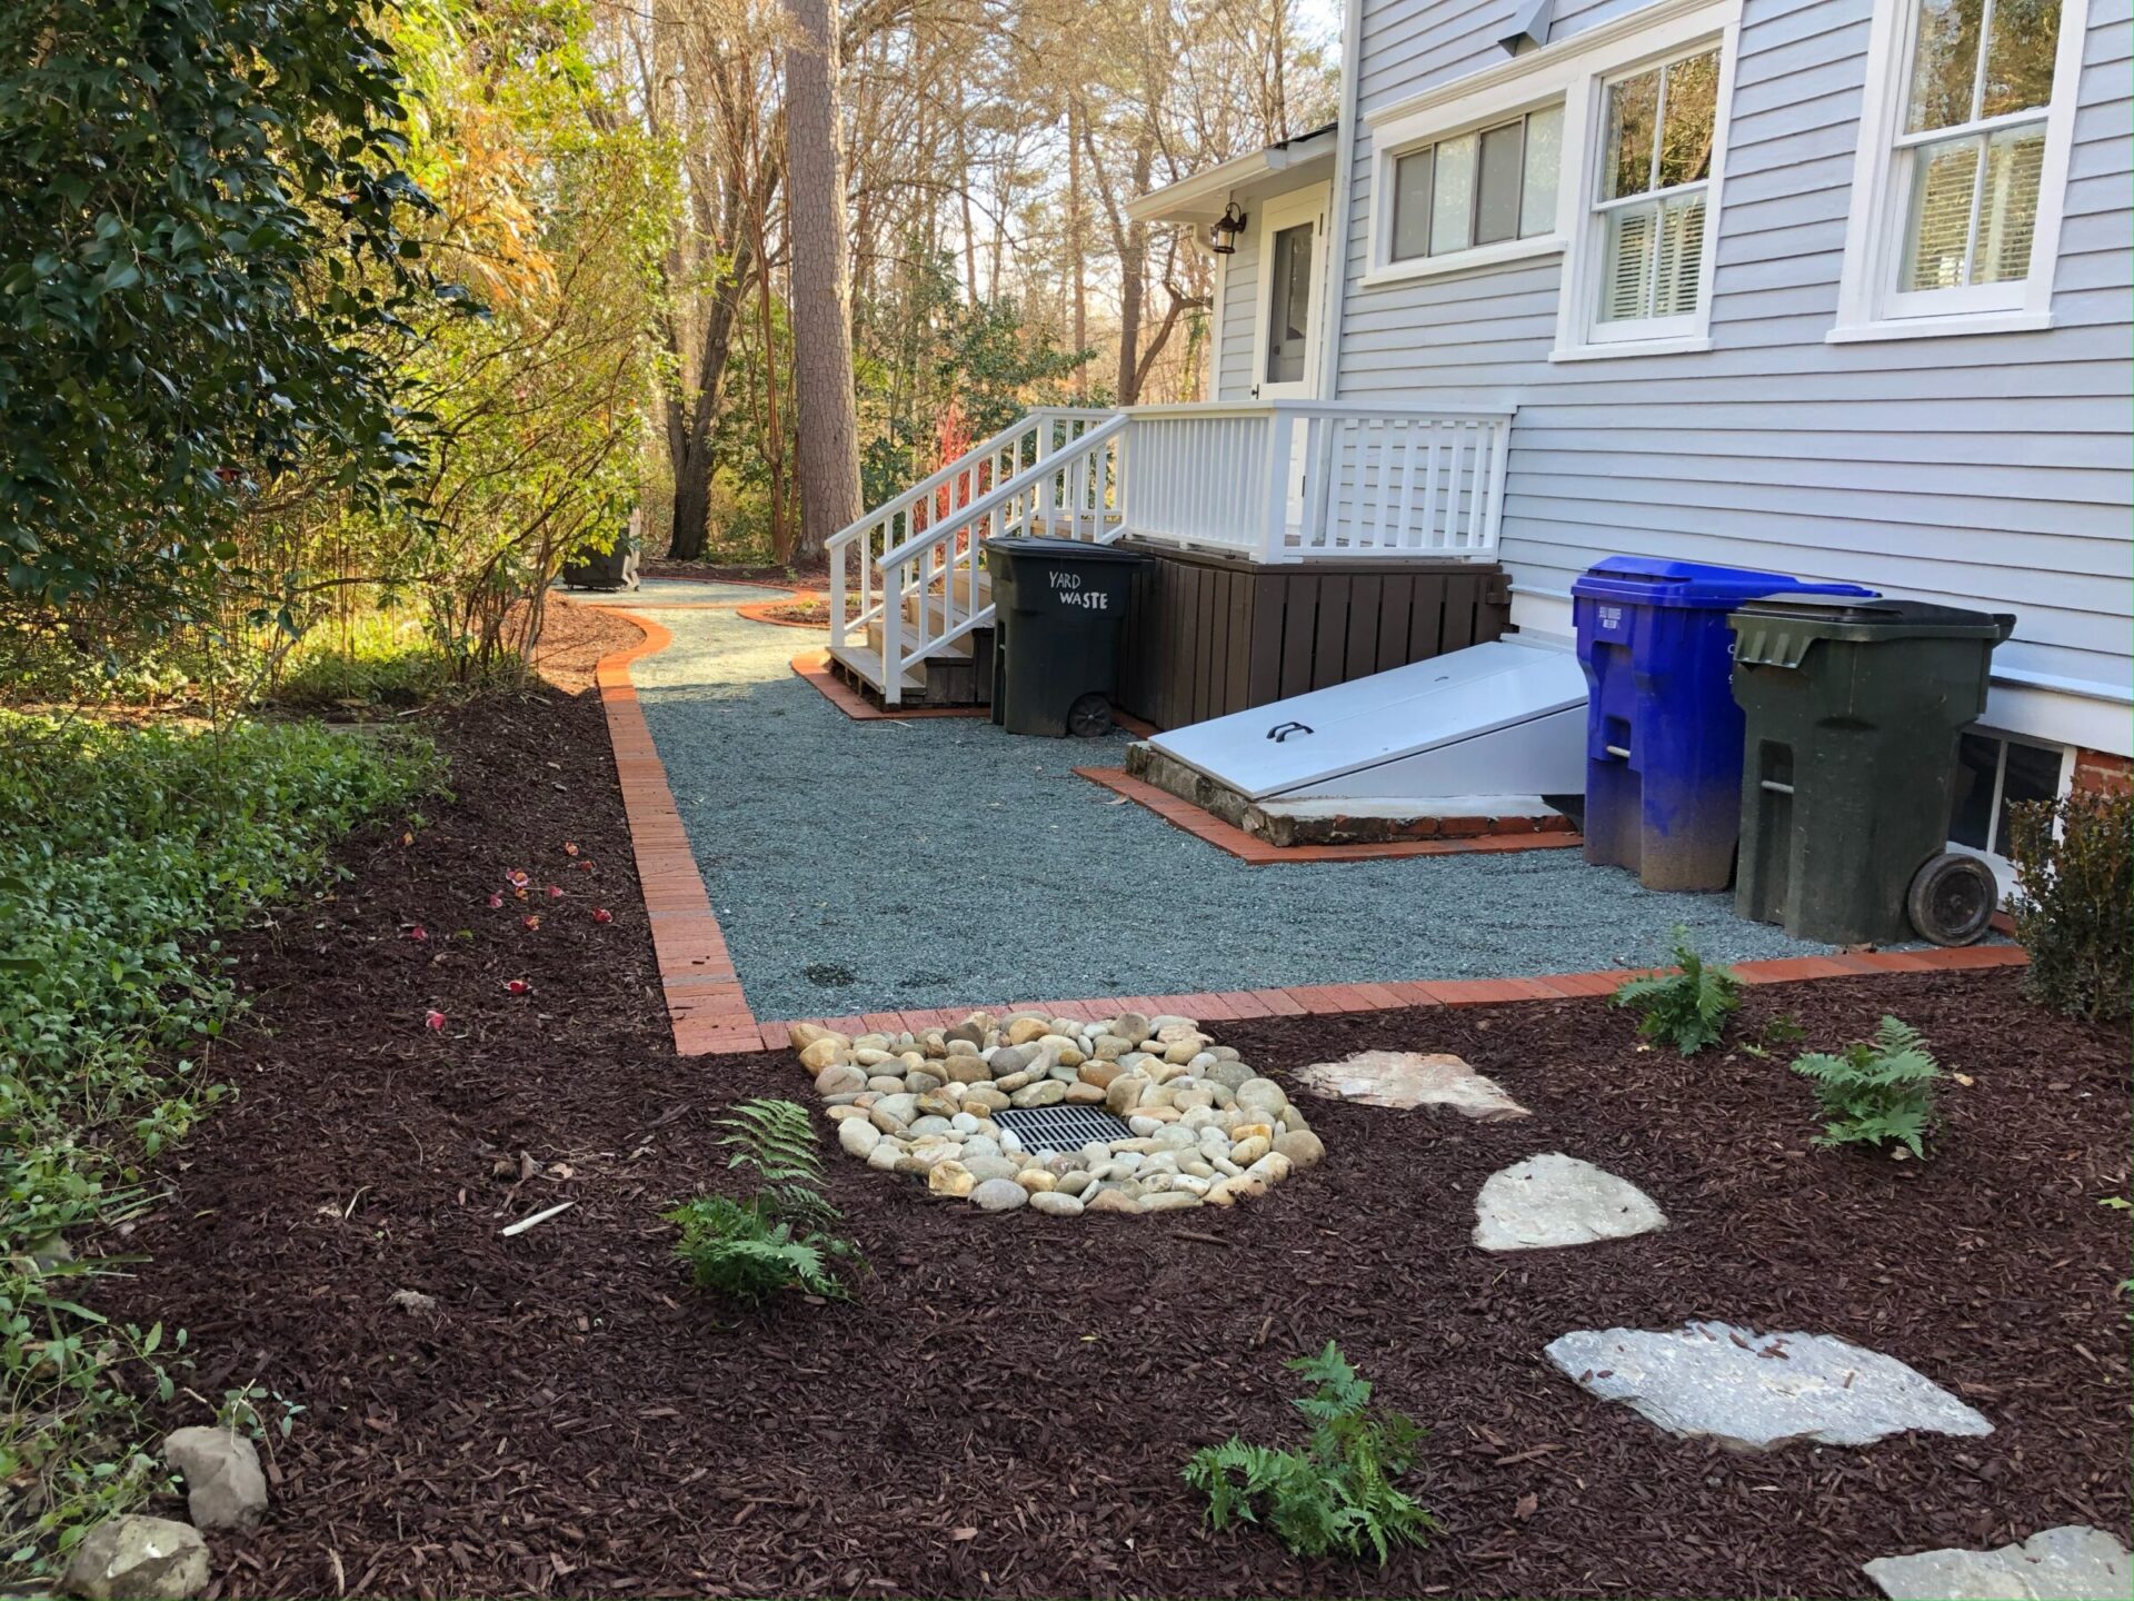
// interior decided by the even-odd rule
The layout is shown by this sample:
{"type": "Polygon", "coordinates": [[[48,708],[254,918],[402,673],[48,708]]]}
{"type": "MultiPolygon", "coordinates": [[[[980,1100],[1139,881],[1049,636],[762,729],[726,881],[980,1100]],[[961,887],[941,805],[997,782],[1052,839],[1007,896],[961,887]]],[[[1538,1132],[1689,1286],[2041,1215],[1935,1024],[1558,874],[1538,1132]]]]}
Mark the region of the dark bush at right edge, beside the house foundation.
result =
{"type": "Polygon", "coordinates": [[[2134,986],[2134,794],[2076,790],[2010,807],[2021,869],[2010,912],[2029,952],[2023,988],[2040,1005],[2111,1023],[2134,986]]]}

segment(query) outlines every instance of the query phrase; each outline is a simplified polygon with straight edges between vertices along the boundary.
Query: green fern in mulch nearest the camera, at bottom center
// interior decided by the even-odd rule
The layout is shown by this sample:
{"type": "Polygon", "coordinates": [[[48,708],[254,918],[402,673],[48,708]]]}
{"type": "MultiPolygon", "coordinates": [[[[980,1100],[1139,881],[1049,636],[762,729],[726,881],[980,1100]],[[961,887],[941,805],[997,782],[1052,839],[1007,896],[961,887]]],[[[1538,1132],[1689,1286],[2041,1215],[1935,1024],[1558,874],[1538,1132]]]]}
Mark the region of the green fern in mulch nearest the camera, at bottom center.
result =
{"type": "Polygon", "coordinates": [[[1208,1445],[1187,1462],[1187,1484],[1208,1496],[1208,1522],[1259,1522],[1300,1556],[1379,1554],[1396,1543],[1423,1545],[1436,1520],[1394,1488],[1417,1458],[1423,1428],[1400,1413],[1372,1415],[1370,1383],[1334,1341],[1319,1356],[1285,1362],[1312,1381],[1295,1402],[1312,1422],[1302,1452],[1251,1445],[1240,1437],[1208,1445]]]}

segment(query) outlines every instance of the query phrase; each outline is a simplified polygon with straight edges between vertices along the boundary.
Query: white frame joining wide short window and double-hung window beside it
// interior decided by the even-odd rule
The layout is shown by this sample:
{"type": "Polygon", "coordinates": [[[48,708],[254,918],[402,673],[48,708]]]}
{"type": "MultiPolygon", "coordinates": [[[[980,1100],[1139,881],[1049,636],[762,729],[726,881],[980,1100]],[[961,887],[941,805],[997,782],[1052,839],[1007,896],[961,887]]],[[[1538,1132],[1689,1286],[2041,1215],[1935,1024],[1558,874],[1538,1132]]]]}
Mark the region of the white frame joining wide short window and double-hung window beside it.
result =
{"type": "Polygon", "coordinates": [[[1726,169],[1726,130],[1733,111],[1733,77],[1739,58],[1741,0],[1654,0],[1592,28],[1496,66],[1411,94],[1364,115],[1370,126],[1368,167],[1368,254],[1361,288],[1385,288],[1415,280],[1502,267],[1515,260],[1564,256],[1556,307],[1551,361],[1645,356],[1677,350],[1709,350],[1711,290],[1718,267],[1718,220],[1726,169]],[[1705,265],[1697,318],[1677,337],[1590,337],[1598,312],[1598,284],[1590,218],[1596,177],[1596,130],[1600,85],[1707,45],[1720,47],[1718,107],[1714,109],[1711,179],[1705,190],[1705,265]],[[1564,107],[1562,152],[1556,171],[1556,228],[1532,239],[1507,239],[1445,256],[1394,260],[1394,162],[1423,145],[1494,128],[1515,115],[1549,105],[1564,107]]]}

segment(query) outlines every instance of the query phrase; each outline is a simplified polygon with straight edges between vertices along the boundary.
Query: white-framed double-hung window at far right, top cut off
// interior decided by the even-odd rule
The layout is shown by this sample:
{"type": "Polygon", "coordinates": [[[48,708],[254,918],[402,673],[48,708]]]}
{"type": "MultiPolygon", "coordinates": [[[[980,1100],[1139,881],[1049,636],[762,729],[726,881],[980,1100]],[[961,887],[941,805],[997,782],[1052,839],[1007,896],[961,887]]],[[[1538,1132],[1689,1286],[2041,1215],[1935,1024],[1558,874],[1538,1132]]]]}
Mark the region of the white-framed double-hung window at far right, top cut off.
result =
{"type": "Polygon", "coordinates": [[[2083,0],[1876,15],[1833,339],[2042,327],[2083,0]]]}

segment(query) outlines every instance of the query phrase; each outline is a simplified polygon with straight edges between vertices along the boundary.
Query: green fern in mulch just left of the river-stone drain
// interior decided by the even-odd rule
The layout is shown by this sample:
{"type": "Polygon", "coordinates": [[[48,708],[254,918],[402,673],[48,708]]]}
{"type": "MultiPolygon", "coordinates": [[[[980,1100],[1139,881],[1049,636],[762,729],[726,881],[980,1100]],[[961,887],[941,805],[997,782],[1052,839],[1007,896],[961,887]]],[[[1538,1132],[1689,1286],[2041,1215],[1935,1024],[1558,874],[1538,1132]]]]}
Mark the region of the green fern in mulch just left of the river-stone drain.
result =
{"type": "Polygon", "coordinates": [[[745,1302],[781,1289],[843,1298],[832,1259],[858,1249],[832,1230],[843,1215],[822,1193],[822,1157],[807,1108],[794,1101],[740,1101],[719,1119],[728,1168],[749,1168],[762,1183],[755,1195],[698,1195],[666,1215],[681,1227],[674,1255],[689,1268],[689,1283],[745,1302]]]}

